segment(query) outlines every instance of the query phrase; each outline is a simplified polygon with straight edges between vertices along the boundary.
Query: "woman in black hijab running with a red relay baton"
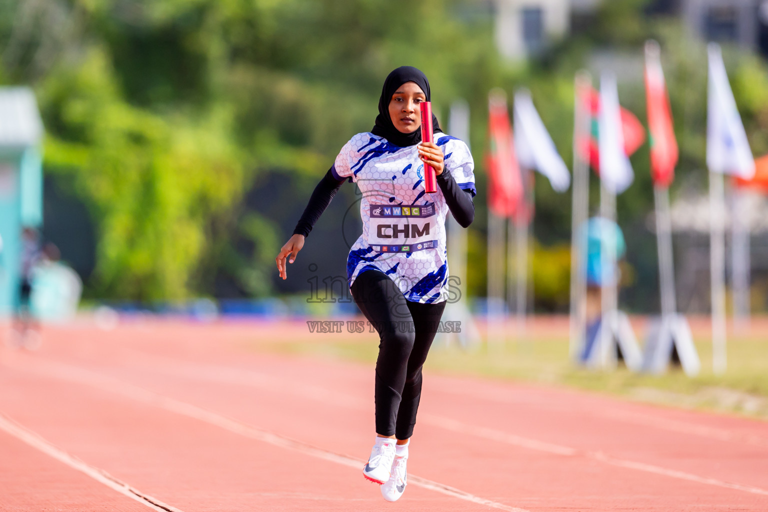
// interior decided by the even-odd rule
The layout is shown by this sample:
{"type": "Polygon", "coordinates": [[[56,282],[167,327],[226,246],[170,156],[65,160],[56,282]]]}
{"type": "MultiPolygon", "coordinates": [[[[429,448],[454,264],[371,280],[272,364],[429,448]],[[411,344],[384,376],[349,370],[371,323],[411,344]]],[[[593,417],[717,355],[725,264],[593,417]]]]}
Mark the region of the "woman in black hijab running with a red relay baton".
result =
{"type": "Polygon", "coordinates": [[[360,311],[379,332],[376,361],[376,444],[362,474],[382,484],[388,501],[406,488],[409,439],[422,390],[422,365],[445,309],[448,263],[445,215],[463,227],[475,218],[474,162],[469,148],[442,132],[422,143],[419,104],[430,101],[429,81],[416,68],[389,74],[371,132],[344,145],[315,188],[293,236],[276,258],[280,277],[345,180],[357,183],[362,235],[349,251],[347,277],[360,311]],[[424,166],[439,190],[427,194],[424,166]]]}

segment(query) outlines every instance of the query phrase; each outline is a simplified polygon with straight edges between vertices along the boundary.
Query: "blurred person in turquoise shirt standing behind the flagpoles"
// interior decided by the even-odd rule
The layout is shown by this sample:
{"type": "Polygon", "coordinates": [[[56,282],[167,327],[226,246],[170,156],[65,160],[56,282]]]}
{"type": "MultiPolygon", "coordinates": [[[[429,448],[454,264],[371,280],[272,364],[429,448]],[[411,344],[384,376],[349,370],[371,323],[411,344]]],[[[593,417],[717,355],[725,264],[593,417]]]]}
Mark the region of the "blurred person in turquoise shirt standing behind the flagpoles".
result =
{"type": "MultiPolygon", "coordinates": [[[[603,286],[617,283],[621,286],[621,269],[619,263],[627,253],[624,233],[612,220],[603,217],[592,217],[585,226],[587,236],[587,336],[581,361],[586,362],[596,341],[600,329],[603,308],[603,286]],[[616,261],[612,269],[603,272],[603,247],[614,246],[616,261]]],[[[617,289],[618,294],[618,289],[617,289]]]]}

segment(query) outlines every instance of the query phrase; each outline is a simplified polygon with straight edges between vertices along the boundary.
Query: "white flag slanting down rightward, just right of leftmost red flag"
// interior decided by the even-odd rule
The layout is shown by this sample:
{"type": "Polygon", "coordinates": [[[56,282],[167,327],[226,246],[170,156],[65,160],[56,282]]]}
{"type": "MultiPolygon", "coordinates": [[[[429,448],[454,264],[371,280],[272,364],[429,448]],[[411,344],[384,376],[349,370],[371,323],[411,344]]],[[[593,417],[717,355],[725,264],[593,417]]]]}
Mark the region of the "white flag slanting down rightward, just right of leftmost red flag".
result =
{"type": "Polygon", "coordinates": [[[521,167],[544,174],[557,192],[568,190],[571,174],[526,90],[515,94],[515,151],[521,167]]]}

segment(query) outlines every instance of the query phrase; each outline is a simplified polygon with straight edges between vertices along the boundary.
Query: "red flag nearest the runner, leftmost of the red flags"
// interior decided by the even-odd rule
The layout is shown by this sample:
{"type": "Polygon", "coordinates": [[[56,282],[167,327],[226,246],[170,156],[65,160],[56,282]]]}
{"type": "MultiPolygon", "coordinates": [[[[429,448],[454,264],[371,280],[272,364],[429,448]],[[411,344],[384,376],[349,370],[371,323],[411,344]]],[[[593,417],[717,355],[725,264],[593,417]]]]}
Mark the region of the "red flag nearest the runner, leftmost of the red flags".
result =
{"type": "Polygon", "coordinates": [[[524,197],[504,91],[488,94],[488,140],[488,207],[495,216],[511,217],[524,197]]]}

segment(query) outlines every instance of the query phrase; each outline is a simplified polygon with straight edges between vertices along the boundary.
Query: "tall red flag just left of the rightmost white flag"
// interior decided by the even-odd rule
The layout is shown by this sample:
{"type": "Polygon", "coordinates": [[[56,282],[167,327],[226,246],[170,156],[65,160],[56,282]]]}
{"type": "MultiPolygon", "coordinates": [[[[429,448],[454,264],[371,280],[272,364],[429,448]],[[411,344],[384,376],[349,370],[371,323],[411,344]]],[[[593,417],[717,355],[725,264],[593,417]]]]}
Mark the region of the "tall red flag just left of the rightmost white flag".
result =
{"type": "Polygon", "coordinates": [[[674,138],[670,100],[656,41],[645,44],[645,94],[650,132],[650,174],[658,187],[669,187],[677,165],[677,140],[674,138]]]}

